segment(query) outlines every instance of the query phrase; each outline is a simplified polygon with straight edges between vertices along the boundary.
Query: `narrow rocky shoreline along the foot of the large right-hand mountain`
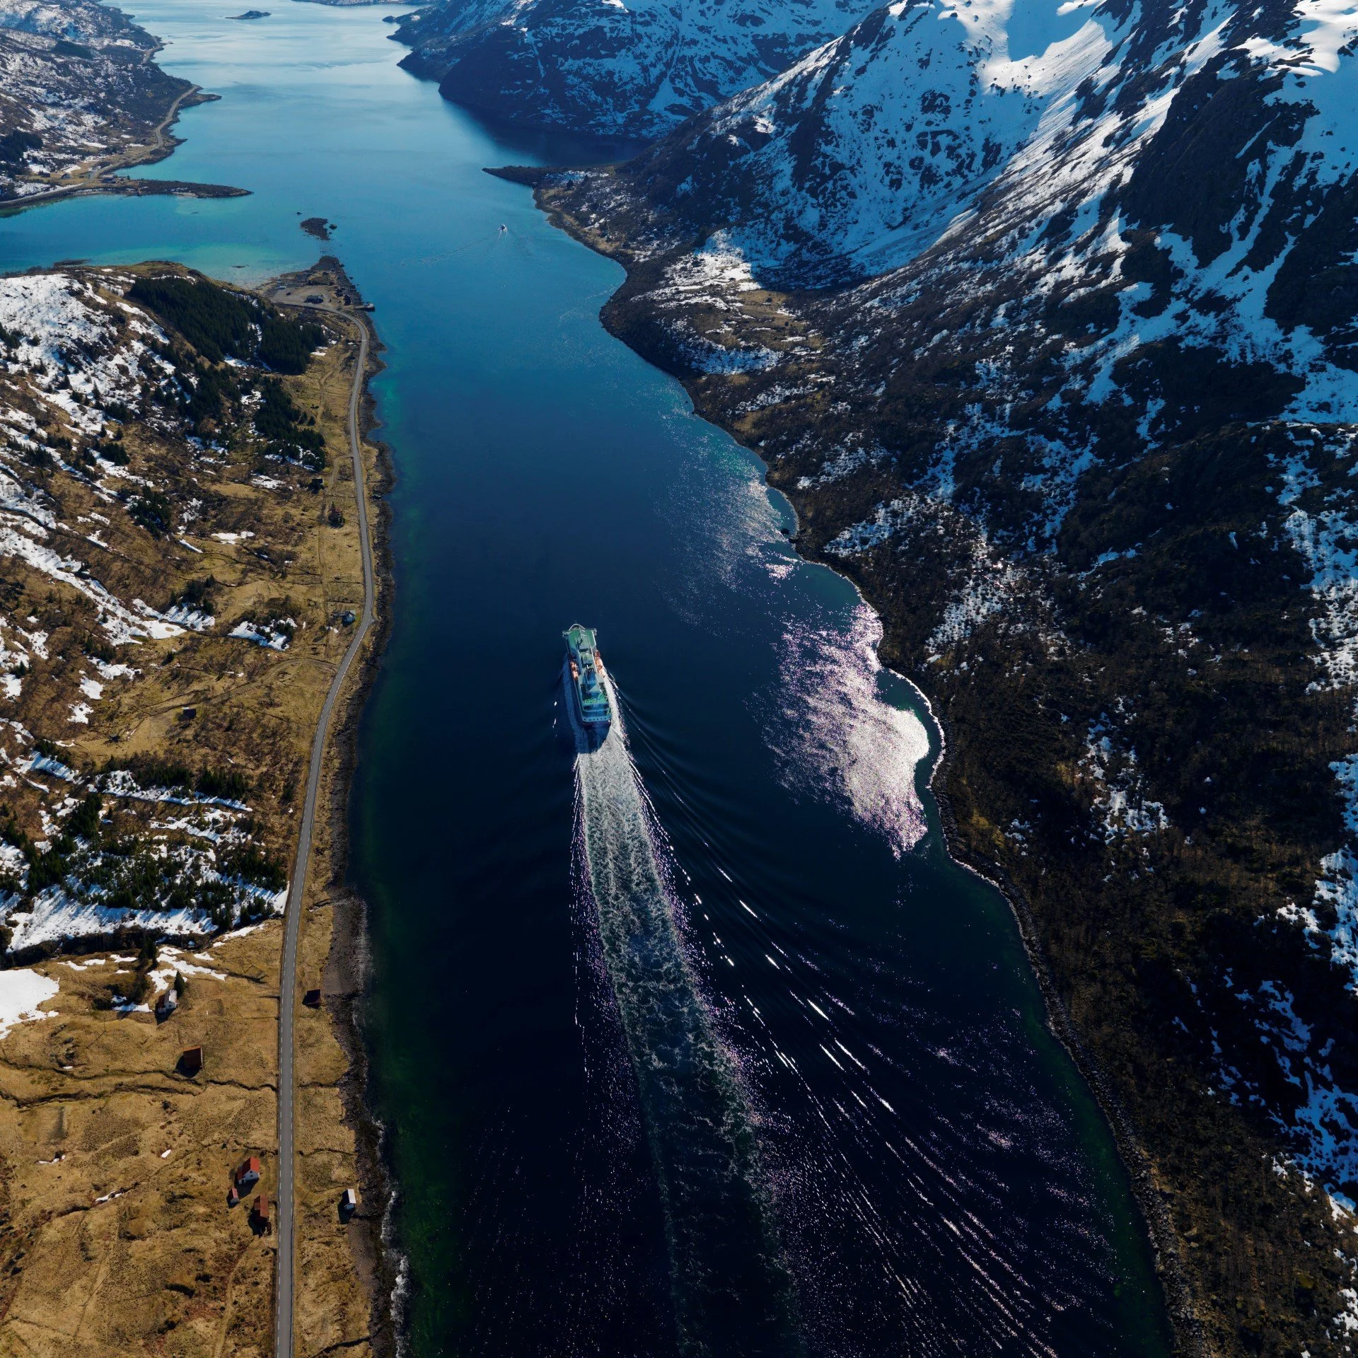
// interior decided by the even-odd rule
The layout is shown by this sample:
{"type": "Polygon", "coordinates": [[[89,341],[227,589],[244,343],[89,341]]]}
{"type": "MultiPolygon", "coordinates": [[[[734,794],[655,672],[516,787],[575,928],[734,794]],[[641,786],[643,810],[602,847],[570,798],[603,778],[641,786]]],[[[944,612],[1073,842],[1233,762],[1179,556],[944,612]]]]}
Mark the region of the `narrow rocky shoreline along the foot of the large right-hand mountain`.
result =
{"type": "MultiPolygon", "coordinates": [[[[797,509],[796,500],[785,488],[775,486],[769,481],[767,463],[759,449],[756,447],[751,447],[737,429],[717,418],[714,413],[709,413],[710,402],[702,399],[701,391],[697,388],[697,380],[690,373],[678,371],[672,364],[665,361],[663,353],[652,352],[646,345],[636,342],[637,337],[614,325],[611,314],[612,303],[617,301],[633,282],[637,269],[636,266],[629,266],[627,261],[621,254],[600,250],[598,242],[591,239],[591,236],[584,231],[579,230],[570,216],[545,202],[542,194],[543,181],[550,172],[553,172],[551,167],[539,168],[528,166],[502,166],[486,168],[486,174],[493,175],[494,178],[507,179],[511,183],[523,185],[524,187],[531,189],[535,206],[543,213],[551,225],[593,253],[602,254],[607,259],[612,259],[623,269],[625,278],[622,284],[610,295],[599,310],[600,325],[610,335],[627,345],[629,349],[642,357],[646,363],[653,364],[661,372],[672,376],[683,387],[684,394],[693,405],[694,414],[706,420],[714,428],[721,429],[725,435],[728,435],[728,437],[739,443],[741,448],[758,459],[765,486],[778,490],[778,493],[786,498],[797,519],[799,531],[789,535],[789,546],[793,547],[801,561],[809,565],[824,566],[826,569],[834,572],[834,574],[839,576],[839,579],[846,580],[864,604],[873,611],[879,621],[883,621],[883,627],[885,629],[881,610],[877,608],[873,600],[864,593],[864,589],[857,580],[838,569],[822,555],[812,555],[803,550],[799,543],[801,513],[797,509]]],[[[1081,1042],[1069,1014],[1066,1013],[1066,1006],[1057,993],[1055,985],[1051,979],[1050,968],[1042,949],[1042,940],[1038,934],[1036,921],[1032,915],[1031,907],[1028,906],[1027,898],[1019,891],[1017,885],[1012,881],[1004,868],[998,864],[972,862],[970,856],[967,856],[961,847],[961,835],[957,831],[956,818],[952,809],[952,799],[947,792],[948,770],[951,767],[952,758],[952,740],[949,737],[948,727],[937,714],[933,699],[915,679],[911,679],[909,675],[895,668],[884,660],[880,653],[879,663],[884,669],[889,671],[896,678],[906,680],[911,690],[923,699],[925,708],[938,731],[940,750],[938,755],[933,760],[932,769],[929,770],[929,778],[925,788],[933,796],[934,804],[938,808],[938,824],[942,835],[944,851],[960,869],[991,885],[1008,904],[1019,930],[1019,937],[1023,942],[1024,955],[1028,959],[1033,979],[1036,980],[1038,989],[1042,994],[1047,1028],[1070,1057],[1076,1070],[1080,1073],[1080,1077],[1089,1086],[1095,1096],[1095,1101],[1099,1105],[1099,1111],[1103,1115],[1104,1123],[1112,1135],[1115,1150],[1127,1175],[1127,1183],[1141,1217],[1142,1229],[1150,1244],[1156,1281],[1161,1287],[1165,1315],[1168,1317],[1175,1342],[1173,1351],[1176,1355],[1186,1355],[1186,1358],[1205,1358],[1209,1353],[1206,1331],[1192,1304],[1192,1290],[1188,1283],[1187,1272],[1183,1267],[1183,1260],[1179,1253],[1177,1240],[1172,1222],[1169,1221],[1164,1195],[1153,1183],[1150,1160],[1127,1122],[1120,1101],[1112,1093],[1105,1076],[1097,1066],[1092,1052],[1089,1052],[1081,1042]]]]}

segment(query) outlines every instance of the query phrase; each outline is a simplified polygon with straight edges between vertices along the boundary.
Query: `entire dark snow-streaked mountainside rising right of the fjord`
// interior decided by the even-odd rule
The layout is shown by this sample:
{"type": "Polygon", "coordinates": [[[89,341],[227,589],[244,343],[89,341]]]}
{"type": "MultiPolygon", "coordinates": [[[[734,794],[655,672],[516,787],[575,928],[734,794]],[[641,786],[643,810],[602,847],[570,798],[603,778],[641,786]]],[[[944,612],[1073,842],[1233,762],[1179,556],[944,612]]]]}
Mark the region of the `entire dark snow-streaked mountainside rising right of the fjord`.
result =
{"type": "Polygon", "coordinates": [[[1184,1347],[1346,1353],[1358,12],[1061,10],[892,5],[520,178],[934,701],[1184,1347]]]}

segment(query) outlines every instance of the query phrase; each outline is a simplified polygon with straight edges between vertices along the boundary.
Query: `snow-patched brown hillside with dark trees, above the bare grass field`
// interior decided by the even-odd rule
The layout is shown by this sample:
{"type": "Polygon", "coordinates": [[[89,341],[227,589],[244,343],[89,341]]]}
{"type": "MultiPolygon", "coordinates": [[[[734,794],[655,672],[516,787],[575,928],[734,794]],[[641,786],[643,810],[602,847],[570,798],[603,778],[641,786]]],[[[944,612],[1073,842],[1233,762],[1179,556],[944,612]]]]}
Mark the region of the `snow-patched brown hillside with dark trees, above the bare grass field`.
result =
{"type": "Polygon", "coordinates": [[[289,580],[340,545],[293,397],[333,367],[342,420],[344,359],[170,266],[0,278],[0,956],[280,907],[344,630],[289,580]]]}

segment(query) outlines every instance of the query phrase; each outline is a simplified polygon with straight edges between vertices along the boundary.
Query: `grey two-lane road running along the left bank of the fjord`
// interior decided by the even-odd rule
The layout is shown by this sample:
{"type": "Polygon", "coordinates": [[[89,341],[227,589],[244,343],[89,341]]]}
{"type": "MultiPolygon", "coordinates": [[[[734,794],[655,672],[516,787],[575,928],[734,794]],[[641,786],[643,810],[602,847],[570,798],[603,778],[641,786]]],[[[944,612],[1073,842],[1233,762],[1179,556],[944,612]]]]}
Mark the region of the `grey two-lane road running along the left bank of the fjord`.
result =
{"type": "Polygon", "coordinates": [[[301,809],[301,830],[297,835],[297,858],[292,866],[292,887],[288,891],[288,909],[282,926],[282,968],[278,978],[278,1210],[276,1230],[278,1238],[278,1279],[274,1289],[277,1320],[274,1335],[274,1358],[292,1358],[292,1298],[293,1298],[293,1112],[296,1095],[296,1074],[292,1065],[293,1020],[297,1014],[297,938],[301,933],[301,914],[306,909],[307,865],[311,858],[311,831],[316,819],[316,796],[320,788],[320,767],[326,754],[326,735],[330,731],[330,717],[335,701],[344,689],[363,638],[368,634],[373,619],[373,572],[372,539],[368,535],[368,494],[363,479],[363,454],[359,447],[359,402],[363,398],[363,382],[368,369],[368,326],[364,320],[333,307],[312,310],[331,311],[334,315],[353,320],[359,326],[359,365],[353,375],[353,388],[349,392],[349,452],[353,458],[353,485],[359,500],[359,540],[363,545],[363,615],[359,618],[349,641],[349,648],[340,661],[330,691],[326,694],[316,722],[316,735],[311,741],[311,765],[307,769],[307,797],[301,809]]]}

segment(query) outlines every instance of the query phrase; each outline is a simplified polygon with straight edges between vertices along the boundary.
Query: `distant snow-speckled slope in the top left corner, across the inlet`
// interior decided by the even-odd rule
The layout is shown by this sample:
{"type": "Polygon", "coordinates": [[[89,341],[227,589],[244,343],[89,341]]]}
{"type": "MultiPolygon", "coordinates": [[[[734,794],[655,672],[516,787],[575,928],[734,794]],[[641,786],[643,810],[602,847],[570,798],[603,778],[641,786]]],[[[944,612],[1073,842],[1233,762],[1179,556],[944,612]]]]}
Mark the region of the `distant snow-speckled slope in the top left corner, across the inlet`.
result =
{"type": "Polygon", "coordinates": [[[94,0],[0,0],[0,200],[167,155],[156,129],[193,86],[152,61],[158,49],[94,0]]]}

